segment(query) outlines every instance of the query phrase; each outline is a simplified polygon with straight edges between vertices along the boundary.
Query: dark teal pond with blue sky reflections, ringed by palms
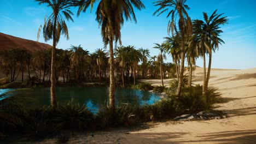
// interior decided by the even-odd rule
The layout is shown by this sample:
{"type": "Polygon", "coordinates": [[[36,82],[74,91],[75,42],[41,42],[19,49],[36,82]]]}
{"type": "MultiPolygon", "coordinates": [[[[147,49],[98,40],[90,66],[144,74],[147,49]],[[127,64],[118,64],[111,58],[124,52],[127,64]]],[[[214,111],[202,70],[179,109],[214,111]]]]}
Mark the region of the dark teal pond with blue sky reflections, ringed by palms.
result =
{"type": "MultiPolygon", "coordinates": [[[[1,94],[16,95],[16,97],[32,98],[26,105],[43,106],[50,104],[50,88],[26,88],[26,89],[0,89],[1,94]],[[17,91],[14,91],[17,90],[17,91]]],[[[58,103],[73,100],[74,103],[86,105],[93,113],[97,113],[102,105],[108,103],[109,88],[78,88],[78,87],[57,87],[56,95],[58,103]]],[[[115,105],[123,103],[130,104],[154,104],[160,100],[160,95],[137,89],[115,88],[115,105]]],[[[0,98],[1,100],[1,98],[0,98]]]]}

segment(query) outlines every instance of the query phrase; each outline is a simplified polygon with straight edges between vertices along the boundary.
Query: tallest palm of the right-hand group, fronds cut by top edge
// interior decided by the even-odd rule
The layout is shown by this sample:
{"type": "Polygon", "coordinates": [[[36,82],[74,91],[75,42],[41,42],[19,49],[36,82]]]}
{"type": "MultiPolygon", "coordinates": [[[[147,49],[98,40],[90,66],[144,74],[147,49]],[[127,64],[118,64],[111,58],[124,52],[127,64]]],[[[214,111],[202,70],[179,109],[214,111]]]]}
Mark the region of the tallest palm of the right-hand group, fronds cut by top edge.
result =
{"type": "Polygon", "coordinates": [[[170,33],[170,30],[172,32],[172,35],[175,33],[178,33],[177,27],[176,27],[176,15],[178,14],[179,20],[178,20],[178,28],[179,32],[181,33],[181,68],[179,70],[179,79],[178,79],[178,88],[177,88],[177,96],[181,95],[181,88],[182,88],[182,82],[183,82],[183,73],[184,73],[184,61],[185,61],[185,37],[186,35],[192,34],[192,23],[190,20],[190,17],[186,11],[186,9],[190,9],[188,5],[185,4],[187,0],[161,0],[154,2],[155,6],[159,6],[160,8],[157,9],[154,13],[158,16],[165,11],[168,11],[169,8],[171,8],[170,11],[168,11],[167,17],[171,16],[171,21],[168,23],[168,33],[170,33]]]}

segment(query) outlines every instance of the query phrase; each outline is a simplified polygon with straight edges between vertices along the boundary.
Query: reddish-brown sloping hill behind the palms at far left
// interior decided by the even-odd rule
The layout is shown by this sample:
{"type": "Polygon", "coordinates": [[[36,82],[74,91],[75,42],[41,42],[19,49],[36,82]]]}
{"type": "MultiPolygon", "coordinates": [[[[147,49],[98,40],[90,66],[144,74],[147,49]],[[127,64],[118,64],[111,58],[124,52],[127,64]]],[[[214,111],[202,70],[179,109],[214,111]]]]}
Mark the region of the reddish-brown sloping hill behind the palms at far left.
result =
{"type": "Polygon", "coordinates": [[[38,50],[50,49],[51,47],[48,44],[0,33],[0,51],[18,48],[33,53],[38,50]]]}

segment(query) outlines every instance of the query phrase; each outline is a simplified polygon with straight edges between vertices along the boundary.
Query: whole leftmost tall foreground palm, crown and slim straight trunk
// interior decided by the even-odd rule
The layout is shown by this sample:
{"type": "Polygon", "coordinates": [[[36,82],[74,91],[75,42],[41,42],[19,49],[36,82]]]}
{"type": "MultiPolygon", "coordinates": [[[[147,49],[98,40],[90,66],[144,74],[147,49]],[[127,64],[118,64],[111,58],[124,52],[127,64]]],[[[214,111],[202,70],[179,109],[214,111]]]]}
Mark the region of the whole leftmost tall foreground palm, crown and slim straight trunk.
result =
{"type": "MultiPolygon", "coordinates": [[[[53,39],[53,51],[51,53],[51,106],[56,107],[56,79],[55,79],[55,59],[56,59],[56,45],[60,40],[60,35],[64,34],[68,39],[68,28],[65,22],[71,20],[73,21],[71,15],[73,13],[69,10],[76,4],[72,0],[35,0],[39,4],[47,4],[53,10],[53,13],[44,20],[43,35],[44,40],[48,41],[53,39]],[[63,19],[65,17],[65,19],[63,19]]],[[[46,17],[45,17],[46,18],[46,17]]],[[[38,29],[38,38],[42,25],[38,29]]]]}

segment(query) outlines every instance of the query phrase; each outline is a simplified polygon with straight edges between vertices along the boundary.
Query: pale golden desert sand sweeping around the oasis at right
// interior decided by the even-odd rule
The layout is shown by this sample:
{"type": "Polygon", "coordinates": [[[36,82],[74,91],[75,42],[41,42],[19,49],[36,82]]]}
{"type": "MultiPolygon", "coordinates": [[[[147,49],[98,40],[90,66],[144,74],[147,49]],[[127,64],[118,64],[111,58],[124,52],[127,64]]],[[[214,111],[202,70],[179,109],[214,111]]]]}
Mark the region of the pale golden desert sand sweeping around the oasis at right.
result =
{"type": "MultiPolygon", "coordinates": [[[[160,80],[143,80],[161,85],[160,80]]],[[[165,85],[168,85],[165,80],[165,85]]],[[[195,70],[193,83],[202,83],[202,68],[195,70]]],[[[228,102],[217,110],[228,118],[210,121],[172,121],[149,124],[144,129],[114,129],[78,134],[68,143],[256,143],[256,68],[212,69],[210,87],[219,88],[228,102]],[[94,136],[91,136],[94,134],[94,136]]],[[[48,139],[43,143],[55,143],[48,139]]]]}

